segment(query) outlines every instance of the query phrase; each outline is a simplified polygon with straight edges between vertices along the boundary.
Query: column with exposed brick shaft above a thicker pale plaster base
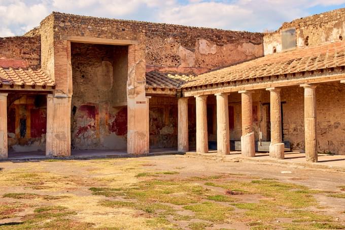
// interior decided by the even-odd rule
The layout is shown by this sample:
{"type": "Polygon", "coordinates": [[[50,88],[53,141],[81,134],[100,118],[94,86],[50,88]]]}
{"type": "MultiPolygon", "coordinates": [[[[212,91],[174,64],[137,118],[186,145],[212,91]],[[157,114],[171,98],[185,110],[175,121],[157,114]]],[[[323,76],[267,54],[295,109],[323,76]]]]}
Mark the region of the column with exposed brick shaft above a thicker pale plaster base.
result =
{"type": "Polygon", "coordinates": [[[242,101],[242,136],[241,154],[245,157],[255,156],[255,137],[253,132],[253,92],[239,91],[242,101]]]}

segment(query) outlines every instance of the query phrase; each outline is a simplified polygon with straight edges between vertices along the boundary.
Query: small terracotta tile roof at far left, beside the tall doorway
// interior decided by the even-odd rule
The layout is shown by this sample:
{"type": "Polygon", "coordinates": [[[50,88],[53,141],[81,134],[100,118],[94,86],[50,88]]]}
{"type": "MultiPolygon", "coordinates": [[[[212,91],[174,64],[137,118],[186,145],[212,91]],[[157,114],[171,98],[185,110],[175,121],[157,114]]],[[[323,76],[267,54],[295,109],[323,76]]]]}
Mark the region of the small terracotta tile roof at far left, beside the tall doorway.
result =
{"type": "Polygon", "coordinates": [[[55,82],[41,69],[4,69],[0,67],[0,85],[55,86],[55,82]]]}

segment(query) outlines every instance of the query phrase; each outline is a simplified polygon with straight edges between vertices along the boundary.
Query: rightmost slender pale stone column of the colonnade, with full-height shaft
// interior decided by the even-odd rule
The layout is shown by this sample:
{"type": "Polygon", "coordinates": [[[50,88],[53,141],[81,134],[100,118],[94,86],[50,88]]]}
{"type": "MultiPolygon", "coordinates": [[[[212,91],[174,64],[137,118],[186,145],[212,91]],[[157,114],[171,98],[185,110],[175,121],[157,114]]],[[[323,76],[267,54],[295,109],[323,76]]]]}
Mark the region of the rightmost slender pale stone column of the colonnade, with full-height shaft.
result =
{"type": "Polygon", "coordinates": [[[318,144],[316,136],[316,85],[303,84],[304,88],[304,140],[305,159],[318,162],[318,144]]]}

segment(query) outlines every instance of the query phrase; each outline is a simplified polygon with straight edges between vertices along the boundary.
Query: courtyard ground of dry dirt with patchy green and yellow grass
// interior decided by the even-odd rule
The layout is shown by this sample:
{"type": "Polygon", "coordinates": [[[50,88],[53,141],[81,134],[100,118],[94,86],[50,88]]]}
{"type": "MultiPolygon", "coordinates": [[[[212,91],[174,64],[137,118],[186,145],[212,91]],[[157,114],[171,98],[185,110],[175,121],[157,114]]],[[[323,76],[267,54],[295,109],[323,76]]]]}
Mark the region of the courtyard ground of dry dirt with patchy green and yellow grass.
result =
{"type": "Polygon", "coordinates": [[[187,156],[0,162],[0,229],[345,229],[345,174],[187,156]]]}

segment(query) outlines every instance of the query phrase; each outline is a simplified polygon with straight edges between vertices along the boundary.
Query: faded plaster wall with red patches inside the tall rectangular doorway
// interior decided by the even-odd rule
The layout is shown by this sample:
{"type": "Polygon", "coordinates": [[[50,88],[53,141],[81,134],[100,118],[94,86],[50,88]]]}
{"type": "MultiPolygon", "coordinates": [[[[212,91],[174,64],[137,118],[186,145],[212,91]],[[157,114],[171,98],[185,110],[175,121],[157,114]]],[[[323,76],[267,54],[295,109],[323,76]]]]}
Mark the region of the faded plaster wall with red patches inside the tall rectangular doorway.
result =
{"type": "Polygon", "coordinates": [[[72,43],[72,148],[126,149],[127,46],[72,43]]]}

